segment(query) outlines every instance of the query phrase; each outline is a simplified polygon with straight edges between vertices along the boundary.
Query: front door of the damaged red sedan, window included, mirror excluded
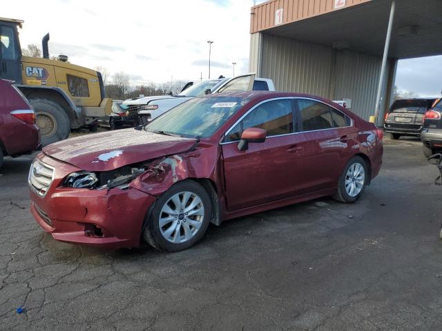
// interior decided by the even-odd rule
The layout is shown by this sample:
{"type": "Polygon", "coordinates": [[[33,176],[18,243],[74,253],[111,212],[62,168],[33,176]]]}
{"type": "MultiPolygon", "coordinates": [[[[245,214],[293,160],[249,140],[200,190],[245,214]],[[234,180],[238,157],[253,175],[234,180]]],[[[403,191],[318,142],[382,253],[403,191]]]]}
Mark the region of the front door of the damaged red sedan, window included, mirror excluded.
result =
{"type": "Polygon", "coordinates": [[[229,130],[222,143],[227,209],[229,212],[296,195],[302,153],[294,134],[293,99],[259,103],[229,130]],[[242,131],[262,128],[264,143],[238,150],[242,131]]]}

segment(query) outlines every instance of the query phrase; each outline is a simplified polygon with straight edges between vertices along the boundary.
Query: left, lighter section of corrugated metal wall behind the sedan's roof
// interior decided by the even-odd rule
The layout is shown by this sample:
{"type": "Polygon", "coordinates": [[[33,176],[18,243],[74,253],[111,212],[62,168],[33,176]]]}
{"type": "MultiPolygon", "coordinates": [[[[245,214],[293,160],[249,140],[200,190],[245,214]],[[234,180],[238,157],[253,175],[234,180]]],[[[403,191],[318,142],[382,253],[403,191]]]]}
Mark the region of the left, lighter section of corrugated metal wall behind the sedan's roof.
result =
{"type": "Polygon", "coordinates": [[[280,91],[330,97],[332,54],[332,48],[262,34],[258,74],[273,79],[280,91]]]}

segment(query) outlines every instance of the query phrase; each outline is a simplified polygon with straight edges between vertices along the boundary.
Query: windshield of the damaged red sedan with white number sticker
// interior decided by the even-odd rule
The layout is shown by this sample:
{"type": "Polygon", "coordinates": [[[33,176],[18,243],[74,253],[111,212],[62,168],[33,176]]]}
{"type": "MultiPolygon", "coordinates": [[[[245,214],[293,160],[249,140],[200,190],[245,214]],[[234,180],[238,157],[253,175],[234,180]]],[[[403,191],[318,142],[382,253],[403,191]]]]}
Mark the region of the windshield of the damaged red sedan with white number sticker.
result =
{"type": "Polygon", "coordinates": [[[164,113],[144,130],[183,137],[211,137],[247,101],[238,97],[191,99],[164,113]]]}

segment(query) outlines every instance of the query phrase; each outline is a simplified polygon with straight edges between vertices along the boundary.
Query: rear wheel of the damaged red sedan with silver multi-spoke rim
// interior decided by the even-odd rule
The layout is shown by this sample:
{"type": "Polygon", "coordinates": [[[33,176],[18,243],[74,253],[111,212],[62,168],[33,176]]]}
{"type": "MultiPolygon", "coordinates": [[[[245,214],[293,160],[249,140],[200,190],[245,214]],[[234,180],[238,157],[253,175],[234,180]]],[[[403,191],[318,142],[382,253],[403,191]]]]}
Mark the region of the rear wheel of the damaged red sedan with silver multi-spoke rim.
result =
{"type": "Polygon", "coordinates": [[[338,180],[338,188],[334,199],[343,203],[358,200],[368,183],[367,163],[362,157],[353,157],[347,162],[338,180]]]}

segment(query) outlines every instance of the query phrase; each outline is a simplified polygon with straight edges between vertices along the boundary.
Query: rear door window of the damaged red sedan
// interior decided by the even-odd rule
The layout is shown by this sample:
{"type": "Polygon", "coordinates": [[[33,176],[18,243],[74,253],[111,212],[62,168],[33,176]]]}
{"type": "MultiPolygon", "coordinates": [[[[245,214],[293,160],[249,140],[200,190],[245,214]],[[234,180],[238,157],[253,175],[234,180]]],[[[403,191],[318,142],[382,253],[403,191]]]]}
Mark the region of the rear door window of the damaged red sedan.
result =
{"type": "Polygon", "coordinates": [[[329,106],[313,100],[298,99],[300,131],[314,131],[333,128],[329,106]]]}

